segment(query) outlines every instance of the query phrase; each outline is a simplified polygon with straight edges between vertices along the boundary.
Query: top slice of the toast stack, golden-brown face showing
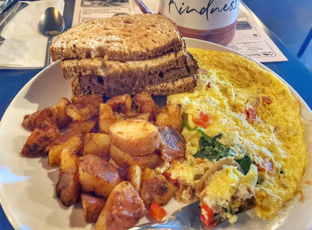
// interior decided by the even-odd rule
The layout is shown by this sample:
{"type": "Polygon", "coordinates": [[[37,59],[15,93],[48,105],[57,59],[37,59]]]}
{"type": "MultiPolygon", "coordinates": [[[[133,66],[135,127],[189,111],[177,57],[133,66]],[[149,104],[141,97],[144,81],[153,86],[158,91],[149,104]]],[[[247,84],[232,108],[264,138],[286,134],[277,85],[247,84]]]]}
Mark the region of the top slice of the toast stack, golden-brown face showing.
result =
{"type": "Polygon", "coordinates": [[[105,57],[137,60],[179,50],[183,39],[176,24],[159,14],[97,19],[74,26],[50,46],[52,61],[105,57]]]}

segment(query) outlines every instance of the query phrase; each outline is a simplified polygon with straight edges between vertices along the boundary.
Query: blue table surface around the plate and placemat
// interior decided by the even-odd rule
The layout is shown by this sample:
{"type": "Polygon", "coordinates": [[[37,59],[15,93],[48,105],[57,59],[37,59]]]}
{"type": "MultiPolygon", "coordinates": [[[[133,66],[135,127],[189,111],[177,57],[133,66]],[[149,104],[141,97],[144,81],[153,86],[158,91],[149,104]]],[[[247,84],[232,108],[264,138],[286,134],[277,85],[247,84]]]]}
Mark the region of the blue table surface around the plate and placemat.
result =
{"type": "MultiPolygon", "coordinates": [[[[65,29],[69,29],[72,23],[73,9],[75,0],[65,0],[64,20],[65,29]]],[[[284,53],[289,61],[283,62],[267,62],[264,63],[267,67],[273,70],[276,74],[281,76],[297,91],[305,102],[312,108],[311,89],[312,86],[312,72],[305,67],[305,65],[296,58],[296,56],[278,39],[262,22],[257,19],[259,25],[268,34],[272,41],[284,53]]],[[[0,118],[2,118],[5,110],[15,95],[22,89],[22,87],[39,73],[41,69],[36,70],[0,70],[0,118]]],[[[2,208],[0,208],[0,229],[13,229],[8,222],[2,208]]]]}

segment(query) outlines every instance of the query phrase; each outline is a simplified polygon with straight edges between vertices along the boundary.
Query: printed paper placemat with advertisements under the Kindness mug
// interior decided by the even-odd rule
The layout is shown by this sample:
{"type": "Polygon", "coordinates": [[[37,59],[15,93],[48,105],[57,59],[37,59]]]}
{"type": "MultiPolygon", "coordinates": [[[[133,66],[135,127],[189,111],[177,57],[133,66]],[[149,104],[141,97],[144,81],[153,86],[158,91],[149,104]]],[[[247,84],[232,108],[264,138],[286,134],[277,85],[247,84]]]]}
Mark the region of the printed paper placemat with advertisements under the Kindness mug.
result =
{"type": "MultiPolygon", "coordinates": [[[[159,0],[143,2],[151,11],[158,12],[159,0]]],[[[142,11],[134,0],[76,0],[72,26],[98,18],[137,13],[142,11]]],[[[239,5],[236,34],[228,47],[259,62],[288,61],[243,4],[239,5]]]]}

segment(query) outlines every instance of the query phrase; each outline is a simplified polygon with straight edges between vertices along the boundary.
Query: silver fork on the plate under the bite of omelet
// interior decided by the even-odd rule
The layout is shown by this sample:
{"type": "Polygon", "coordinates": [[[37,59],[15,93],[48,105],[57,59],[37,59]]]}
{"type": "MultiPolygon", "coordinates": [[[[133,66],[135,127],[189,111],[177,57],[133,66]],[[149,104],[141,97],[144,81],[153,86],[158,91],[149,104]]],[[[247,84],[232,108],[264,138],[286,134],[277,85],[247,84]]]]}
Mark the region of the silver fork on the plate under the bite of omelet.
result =
{"type": "MultiPolygon", "coordinates": [[[[202,221],[200,220],[200,201],[195,201],[177,211],[175,211],[168,220],[155,222],[155,223],[146,223],[137,225],[128,230],[150,230],[150,229],[161,229],[161,230],[212,230],[218,225],[222,224],[225,219],[221,216],[215,218],[209,226],[205,227],[202,221]]],[[[217,217],[219,214],[215,214],[217,217]]]]}

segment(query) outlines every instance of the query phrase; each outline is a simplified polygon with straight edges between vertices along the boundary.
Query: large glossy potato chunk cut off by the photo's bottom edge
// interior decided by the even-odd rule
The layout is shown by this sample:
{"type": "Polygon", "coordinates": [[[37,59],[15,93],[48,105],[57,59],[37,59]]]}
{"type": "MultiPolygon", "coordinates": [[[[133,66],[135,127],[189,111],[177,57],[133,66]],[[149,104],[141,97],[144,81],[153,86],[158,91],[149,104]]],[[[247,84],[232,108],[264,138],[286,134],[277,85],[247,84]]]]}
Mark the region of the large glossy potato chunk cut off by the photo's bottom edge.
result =
{"type": "Polygon", "coordinates": [[[95,230],[125,230],[133,227],[144,217],[146,209],[132,185],[123,181],[118,184],[96,222],[95,230]]]}

